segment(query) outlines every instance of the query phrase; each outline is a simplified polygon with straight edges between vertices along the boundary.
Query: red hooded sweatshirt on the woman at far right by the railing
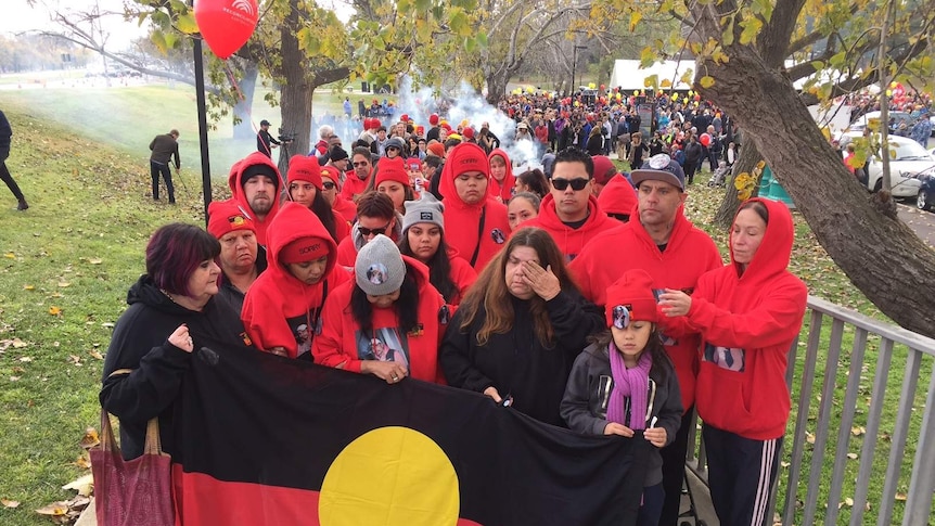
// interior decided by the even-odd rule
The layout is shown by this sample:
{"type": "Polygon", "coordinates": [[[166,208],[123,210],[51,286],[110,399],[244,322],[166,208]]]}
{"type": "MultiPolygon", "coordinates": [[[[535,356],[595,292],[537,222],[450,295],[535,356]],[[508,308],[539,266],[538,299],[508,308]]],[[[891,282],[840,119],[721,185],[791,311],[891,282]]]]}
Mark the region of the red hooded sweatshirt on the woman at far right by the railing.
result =
{"type": "Polygon", "coordinates": [[[785,434],[786,355],[802,330],[808,288],[789,272],[794,227],[783,203],[764,198],[769,222],[746,270],[731,262],[699,279],[687,317],[701,332],[699,415],[753,440],[785,434]]]}

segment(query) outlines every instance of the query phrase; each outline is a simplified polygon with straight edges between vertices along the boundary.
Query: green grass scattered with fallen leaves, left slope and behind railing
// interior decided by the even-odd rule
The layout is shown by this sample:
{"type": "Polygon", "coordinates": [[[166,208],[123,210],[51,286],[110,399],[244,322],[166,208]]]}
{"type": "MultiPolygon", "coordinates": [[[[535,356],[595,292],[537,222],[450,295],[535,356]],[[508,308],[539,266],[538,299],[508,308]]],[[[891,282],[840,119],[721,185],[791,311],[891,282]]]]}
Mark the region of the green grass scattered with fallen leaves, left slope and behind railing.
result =
{"type": "MultiPolygon", "coordinates": [[[[79,440],[85,428],[97,426],[99,418],[102,362],[95,356],[105,352],[112,324],[126,308],[127,288],[143,272],[145,243],[153,230],[169,221],[203,224],[191,171],[183,175],[192,192],[180,191],[178,206],[154,204],[148,196],[145,158],[152,136],[178,127],[183,140],[195,137],[194,103],[188,93],[187,88],[165,86],[102,92],[0,91],[0,108],[16,133],[8,166],[31,206],[17,213],[12,196],[0,192],[0,499],[22,502],[17,509],[0,506],[0,524],[49,524],[33,510],[72,497],[72,491],[60,488],[85,473],[73,463],[82,453],[79,440]],[[85,115],[91,108],[97,118],[85,115]],[[60,312],[50,313],[55,311],[60,312]]],[[[322,97],[340,100],[330,92],[322,97]]],[[[223,129],[217,133],[222,136],[223,129]]],[[[182,152],[188,166],[196,163],[191,147],[189,143],[182,152]]],[[[213,158],[213,166],[220,175],[229,165],[213,158]]],[[[223,187],[216,181],[216,194],[222,195],[223,187]]],[[[693,185],[686,213],[727,254],[727,233],[712,224],[720,192],[703,183],[693,185]]],[[[792,270],[810,292],[885,320],[831,261],[804,220],[798,215],[795,220],[792,270]]],[[[849,364],[850,336],[853,332],[845,334],[843,368],[849,364]]],[[[827,349],[827,329],[822,339],[827,349]]],[[[861,385],[869,396],[875,354],[868,349],[867,356],[871,364],[861,385]]],[[[888,412],[895,413],[902,361],[905,357],[897,358],[889,370],[888,412]]],[[[800,357],[795,367],[800,372],[800,357]]],[[[819,363],[818,377],[823,370],[819,363]]],[[[838,370],[836,398],[843,397],[845,371],[838,370]]],[[[931,360],[923,379],[930,372],[931,360]]],[[[920,383],[926,385],[924,380],[920,383]]],[[[797,392],[796,387],[794,401],[797,392]]],[[[919,408],[924,403],[921,397],[917,396],[919,408]]],[[[913,416],[917,435],[921,413],[913,416]]],[[[855,425],[863,425],[860,418],[855,425]]],[[[811,424],[817,425],[815,420],[811,424]]],[[[864,438],[851,437],[850,450],[859,451],[864,438]]],[[[882,473],[885,450],[876,454],[882,473]]],[[[904,461],[907,485],[911,461],[911,457],[904,461]]],[[[830,472],[825,464],[823,471],[830,472]]],[[[853,480],[850,473],[847,477],[853,480]]],[[[845,489],[843,497],[847,496],[845,489]]]]}

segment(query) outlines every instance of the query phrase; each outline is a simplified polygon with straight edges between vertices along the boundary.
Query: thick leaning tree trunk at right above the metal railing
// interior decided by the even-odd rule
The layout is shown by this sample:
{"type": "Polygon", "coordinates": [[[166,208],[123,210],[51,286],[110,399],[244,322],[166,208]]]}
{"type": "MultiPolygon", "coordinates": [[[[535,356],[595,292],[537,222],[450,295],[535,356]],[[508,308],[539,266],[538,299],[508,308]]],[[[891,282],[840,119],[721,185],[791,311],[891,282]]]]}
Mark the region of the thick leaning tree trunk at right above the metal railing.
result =
{"type": "MultiPolygon", "coordinates": [[[[702,41],[721,37],[712,18],[702,21],[697,31],[702,41]]],[[[701,88],[703,97],[735,119],[746,144],[756,145],[850,281],[896,323],[935,337],[935,251],[900,220],[871,205],[787,78],[750,46],[730,46],[727,53],[729,62],[699,65],[699,72],[715,80],[710,88],[701,88]]]]}

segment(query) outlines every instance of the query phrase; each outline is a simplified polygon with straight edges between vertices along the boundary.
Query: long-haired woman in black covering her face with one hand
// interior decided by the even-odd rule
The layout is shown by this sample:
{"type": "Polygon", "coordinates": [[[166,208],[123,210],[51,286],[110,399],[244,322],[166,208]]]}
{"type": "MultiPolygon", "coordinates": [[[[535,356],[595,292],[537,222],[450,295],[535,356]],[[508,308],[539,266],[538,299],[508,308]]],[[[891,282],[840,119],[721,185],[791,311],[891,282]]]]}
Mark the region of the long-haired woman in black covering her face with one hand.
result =
{"type": "Polygon", "coordinates": [[[514,232],[481,272],[445,335],[448,384],[483,393],[542,422],[559,413],[575,357],[603,316],[585,300],[545,231],[514,232]]]}

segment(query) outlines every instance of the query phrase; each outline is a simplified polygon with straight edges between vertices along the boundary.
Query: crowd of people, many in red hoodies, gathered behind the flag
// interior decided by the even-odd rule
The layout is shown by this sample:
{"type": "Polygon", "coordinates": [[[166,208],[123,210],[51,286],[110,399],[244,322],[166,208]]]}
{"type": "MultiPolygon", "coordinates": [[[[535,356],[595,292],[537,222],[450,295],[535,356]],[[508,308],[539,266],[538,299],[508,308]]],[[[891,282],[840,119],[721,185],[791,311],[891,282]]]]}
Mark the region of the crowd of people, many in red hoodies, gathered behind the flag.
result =
{"type": "Polygon", "coordinates": [[[101,402],[120,419],[125,454],[140,454],[154,416],[172,452],[174,396],[194,349],[246,346],[648,440],[641,525],[678,522],[697,410],[721,522],[766,524],[807,295],[786,270],[791,215],[744,204],[723,265],[682,205],[697,164],[734,137],[730,119],[657,100],[654,118],[668,121],[646,141],[627,107],[638,101],[575,102],[504,99],[516,138],[436,114],[389,127],[367,117],[347,150],[322,126],[285,174],[267,152],[235,163],[207,232],[153,234],[115,328],[101,402]],[[500,147],[526,134],[541,169],[500,147]],[[620,172],[612,152],[632,168],[620,172]]]}

